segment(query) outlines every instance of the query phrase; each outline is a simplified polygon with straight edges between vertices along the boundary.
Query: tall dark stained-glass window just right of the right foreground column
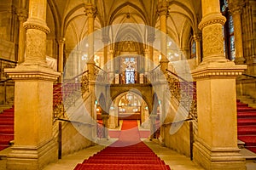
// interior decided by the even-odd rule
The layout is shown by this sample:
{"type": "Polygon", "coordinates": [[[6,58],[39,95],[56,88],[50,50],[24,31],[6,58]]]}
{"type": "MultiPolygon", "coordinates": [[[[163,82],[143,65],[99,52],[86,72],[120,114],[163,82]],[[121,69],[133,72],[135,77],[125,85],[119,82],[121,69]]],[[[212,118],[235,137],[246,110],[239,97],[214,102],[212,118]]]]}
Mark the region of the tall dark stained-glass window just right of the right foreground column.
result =
{"type": "Polygon", "coordinates": [[[224,53],[226,55],[226,58],[230,60],[235,60],[236,51],[235,51],[234,25],[233,25],[233,18],[229,12],[228,0],[220,0],[220,10],[227,19],[227,21],[223,26],[224,53]]]}

